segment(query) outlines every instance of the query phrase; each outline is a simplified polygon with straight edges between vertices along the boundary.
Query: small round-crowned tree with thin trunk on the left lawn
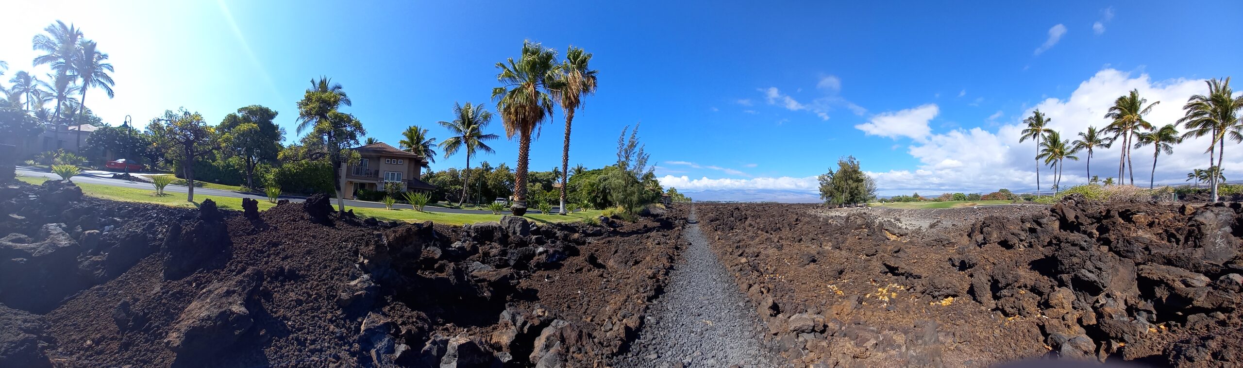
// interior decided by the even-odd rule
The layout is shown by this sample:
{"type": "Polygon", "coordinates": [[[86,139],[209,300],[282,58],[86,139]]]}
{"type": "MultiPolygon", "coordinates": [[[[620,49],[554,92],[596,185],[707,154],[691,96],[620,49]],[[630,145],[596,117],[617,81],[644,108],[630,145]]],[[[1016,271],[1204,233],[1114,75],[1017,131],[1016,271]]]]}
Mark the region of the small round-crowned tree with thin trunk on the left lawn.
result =
{"type": "MultiPolygon", "coordinates": [[[[148,129],[158,132],[155,136],[158,144],[181,160],[181,169],[185,170],[185,182],[194,183],[194,163],[199,157],[215,149],[215,129],[209,127],[199,113],[190,113],[185,108],[178,112],[167,111],[165,117],[172,122],[164,124],[163,121],[152,121],[148,129]]],[[[186,185],[188,201],[194,201],[194,185],[186,185]]]]}

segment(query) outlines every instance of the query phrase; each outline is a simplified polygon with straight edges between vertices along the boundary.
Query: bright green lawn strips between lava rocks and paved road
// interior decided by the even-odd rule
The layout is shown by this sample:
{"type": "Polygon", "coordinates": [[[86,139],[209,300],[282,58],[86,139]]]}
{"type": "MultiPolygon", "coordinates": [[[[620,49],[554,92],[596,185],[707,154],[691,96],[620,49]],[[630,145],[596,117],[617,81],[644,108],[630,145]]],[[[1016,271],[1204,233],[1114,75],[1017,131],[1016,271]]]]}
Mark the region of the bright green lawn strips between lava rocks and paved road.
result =
{"type": "MultiPolygon", "coordinates": [[[[31,178],[31,177],[17,177],[17,179],[30,183],[30,184],[44,184],[47,179],[45,178],[31,178]]],[[[94,198],[103,198],[119,201],[142,201],[142,203],[154,203],[169,206],[180,208],[196,208],[196,203],[185,201],[184,193],[165,193],[163,196],[155,196],[155,189],[134,189],[124,186],[112,186],[103,184],[91,184],[91,183],[78,183],[82,188],[82,193],[94,198]]],[[[204,199],[211,199],[216,203],[216,206],[222,209],[241,210],[241,199],[231,196],[216,196],[216,195],[194,195],[196,201],[203,201],[204,199]]],[[[272,208],[275,204],[267,200],[259,201],[259,209],[266,210],[272,208]]],[[[450,225],[462,225],[462,224],[475,224],[485,221],[496,221],[501,219],[501,215],[492,214],[449,214],[449,213],[420,213],[411,209],[373,209],[373,208],[355,208],[346,206],[347,210],[354,210],[354,214],[359,216],[377,218],[382,220],[400,220],[410,223],[433,221],[436,224],[450,224],[450,225]]],[[[602,211],[598,210],[585,210],[578,211],[571,215],[542,215],[542,214],[528,214],[526,218],[536,223],[567,223],[567,221],[579,221],[588,216],[599,216],[602,211]]]]}

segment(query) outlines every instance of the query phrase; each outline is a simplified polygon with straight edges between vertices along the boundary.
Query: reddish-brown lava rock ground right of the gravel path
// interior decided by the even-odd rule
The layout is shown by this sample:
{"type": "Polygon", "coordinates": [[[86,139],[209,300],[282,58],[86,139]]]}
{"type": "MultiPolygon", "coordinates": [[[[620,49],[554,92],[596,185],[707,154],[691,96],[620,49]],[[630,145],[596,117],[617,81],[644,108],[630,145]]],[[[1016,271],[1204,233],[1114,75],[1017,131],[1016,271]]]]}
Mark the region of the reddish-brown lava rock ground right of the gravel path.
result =
{"type": "Polygon", "coordinates": [[[899,224],[871,209],[699,205],[768,337],[799,364],[1243,366],[1238,203],[911,211],[899,224]]]}

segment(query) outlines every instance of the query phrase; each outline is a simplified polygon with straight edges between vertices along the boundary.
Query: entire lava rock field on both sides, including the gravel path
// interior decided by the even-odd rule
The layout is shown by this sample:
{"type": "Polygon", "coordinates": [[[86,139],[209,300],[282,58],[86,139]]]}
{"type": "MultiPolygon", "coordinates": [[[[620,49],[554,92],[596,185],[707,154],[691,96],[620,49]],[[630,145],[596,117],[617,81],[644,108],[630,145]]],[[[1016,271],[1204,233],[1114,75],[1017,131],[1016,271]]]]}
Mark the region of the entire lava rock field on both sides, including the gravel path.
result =
{"type": "Polygon", "coordinates": [[[0,186],[0,367],[1243,366],[1239,203],[244,208],[0,186]]]}

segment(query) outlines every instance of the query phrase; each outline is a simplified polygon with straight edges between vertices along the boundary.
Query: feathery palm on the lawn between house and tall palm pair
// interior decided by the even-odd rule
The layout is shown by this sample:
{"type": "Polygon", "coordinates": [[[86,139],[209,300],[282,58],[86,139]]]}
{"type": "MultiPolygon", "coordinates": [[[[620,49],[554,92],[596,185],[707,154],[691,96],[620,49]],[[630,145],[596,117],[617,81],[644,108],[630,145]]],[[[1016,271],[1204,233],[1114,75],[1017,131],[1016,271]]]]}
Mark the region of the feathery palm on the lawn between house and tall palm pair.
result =
{"type": "Polygon", "coordinates": [[[461,206],[466,201],[466,186],[469,186],[466,184],[470,183],[470,157],[475,155],[475,152],[492,153],[492,148],[487,147],[484,140],[500,138],[496,134],[484,134],[484,128],[491,122],[491,112],[487,112],[482,104],[471,104],[470,102],[465,106],[454,103],[454,121],[439,122],[441,127],[445,127],[445,129],[449,129],[454,134],[440,142],[440,148],[445,150],[445,158],[456,154],[464,147],[466,148],[466,169],[462,170],[462,196],[457,199],[457,206],[461,206]]]}

